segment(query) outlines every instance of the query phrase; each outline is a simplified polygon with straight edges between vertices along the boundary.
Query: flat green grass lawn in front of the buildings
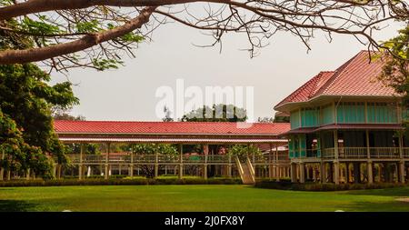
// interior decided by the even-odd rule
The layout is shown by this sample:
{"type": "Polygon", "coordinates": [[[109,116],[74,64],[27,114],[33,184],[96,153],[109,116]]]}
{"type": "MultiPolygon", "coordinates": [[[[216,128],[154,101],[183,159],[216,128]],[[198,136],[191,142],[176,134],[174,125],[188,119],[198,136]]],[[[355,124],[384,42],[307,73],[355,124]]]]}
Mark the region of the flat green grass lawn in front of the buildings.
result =
{"type": "Polygon", "coordinates": [[[0,188],[0,211],[409,211],[409,186],[294,192],[248,185],[0,188]]]}

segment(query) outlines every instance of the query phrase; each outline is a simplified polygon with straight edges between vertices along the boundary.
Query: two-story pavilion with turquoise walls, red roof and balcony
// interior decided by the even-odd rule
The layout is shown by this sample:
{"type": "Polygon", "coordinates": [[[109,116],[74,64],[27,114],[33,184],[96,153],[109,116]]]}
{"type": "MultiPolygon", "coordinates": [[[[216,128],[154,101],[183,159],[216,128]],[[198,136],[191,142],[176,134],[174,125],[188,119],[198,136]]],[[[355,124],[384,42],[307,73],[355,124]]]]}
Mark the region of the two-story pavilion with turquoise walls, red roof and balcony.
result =
{"type": "Polygon", "coordinates": [[[362,51],[325,71],[274,106],[290,113],[292,181],[374,183],[405,181],[409,138],[401,95],[377,80],[382,59],[362,51]]]}

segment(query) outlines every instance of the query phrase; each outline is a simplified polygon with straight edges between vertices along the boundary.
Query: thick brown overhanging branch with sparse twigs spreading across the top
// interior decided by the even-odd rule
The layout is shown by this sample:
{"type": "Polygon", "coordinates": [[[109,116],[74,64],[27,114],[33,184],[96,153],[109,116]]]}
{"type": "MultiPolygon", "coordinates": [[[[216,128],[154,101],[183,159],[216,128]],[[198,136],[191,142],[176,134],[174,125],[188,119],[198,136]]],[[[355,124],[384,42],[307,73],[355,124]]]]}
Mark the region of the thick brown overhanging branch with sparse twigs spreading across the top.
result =
{"type": "Polygon", "coordinates": [[[178,22],[221,45],[230,32],[248,39],[250,55],[284,31],[310,49],[315,31],[354,35],[368,48],[387,22],[409,18],[404,0],[0,0],[0,64],[43,61],[56,70],[122,65],[122,56],[158,25],[178,22]],[[18,40],[9,43],[8,40],[18,40]]]}

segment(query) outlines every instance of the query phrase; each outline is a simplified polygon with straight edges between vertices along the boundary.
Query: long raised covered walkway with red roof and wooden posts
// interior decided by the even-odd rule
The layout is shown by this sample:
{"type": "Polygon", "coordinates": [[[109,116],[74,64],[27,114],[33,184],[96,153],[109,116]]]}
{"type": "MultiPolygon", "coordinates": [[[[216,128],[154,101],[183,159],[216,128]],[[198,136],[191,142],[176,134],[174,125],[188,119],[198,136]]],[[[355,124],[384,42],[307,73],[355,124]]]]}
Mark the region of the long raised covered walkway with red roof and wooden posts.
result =
{"type": "MultiPolygon", "coordinates": [[[[55,176],[69,172],[84,179],[90,175],[139,175],[151,167],[158,175],[212,175],[231,177],[239,174],[240,165],[231,155],[219,153],[214,145],[254,145],[263,155],[248,155],[254,176],[289,177],[290,165],[287,140],[278,135],[288,131],[287,123],[228,123],[228,122],[117,122],[117,121],[55,121],[55,132],[65,144],[98,143],[105,153],[86,155],[84,148],[77,155],[68,155],[70,170],[56,165],[55,176]],[[134,149],[112,153],[111,145],[162,143],[178,146],[178,155],[155,153],[144,155],[134,149]],[[200,145],[201,153],[184,153],[183,145],[200,145]],[[73,170],[73,168],[75,168],[73,170]],[[95,172],[97,172],[95,174],[95,172]]],[[[245,159],[240,158],[242,163],[245,159]]]]}

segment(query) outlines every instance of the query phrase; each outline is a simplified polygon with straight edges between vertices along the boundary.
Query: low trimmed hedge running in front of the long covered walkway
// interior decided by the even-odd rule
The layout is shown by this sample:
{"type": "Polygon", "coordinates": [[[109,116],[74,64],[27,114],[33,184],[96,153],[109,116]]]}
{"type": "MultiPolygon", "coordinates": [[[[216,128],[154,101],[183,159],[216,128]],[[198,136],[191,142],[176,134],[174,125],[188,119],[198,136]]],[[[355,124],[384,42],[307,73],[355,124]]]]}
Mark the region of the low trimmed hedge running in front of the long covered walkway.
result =
{"type": "Polygon", "coordinates": [[[64,186],[64,185],[239,185],[237,179],[165,178],[165,179],[63,179],[63,180],[15,180],[2,181],[0,187],[13,186],[64,186]]]}

